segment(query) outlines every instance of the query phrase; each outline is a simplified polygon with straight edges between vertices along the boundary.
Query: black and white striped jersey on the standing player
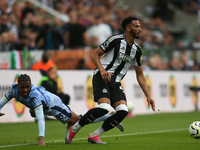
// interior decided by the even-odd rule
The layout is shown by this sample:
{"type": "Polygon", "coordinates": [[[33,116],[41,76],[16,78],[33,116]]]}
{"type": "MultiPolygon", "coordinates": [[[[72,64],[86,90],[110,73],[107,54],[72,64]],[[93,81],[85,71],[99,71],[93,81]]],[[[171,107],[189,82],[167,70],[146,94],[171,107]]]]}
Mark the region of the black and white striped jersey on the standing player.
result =
{"type": "MultiPolygon", "coordinates": [[[[142,50],[134,41],[130,46],[126,42],[125,34],[119,34],[109,37],[100,48],[105,52],[101,57],[100,62],[104,69],[113,73],[111,81],[120,82],[126,75],[129,66],[133,63],[134,66],[141,66],[142,50]]],[[[94,71],[94,74],[98,69],[94,71]]]]}

